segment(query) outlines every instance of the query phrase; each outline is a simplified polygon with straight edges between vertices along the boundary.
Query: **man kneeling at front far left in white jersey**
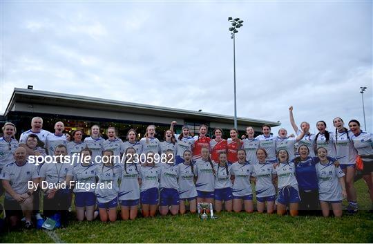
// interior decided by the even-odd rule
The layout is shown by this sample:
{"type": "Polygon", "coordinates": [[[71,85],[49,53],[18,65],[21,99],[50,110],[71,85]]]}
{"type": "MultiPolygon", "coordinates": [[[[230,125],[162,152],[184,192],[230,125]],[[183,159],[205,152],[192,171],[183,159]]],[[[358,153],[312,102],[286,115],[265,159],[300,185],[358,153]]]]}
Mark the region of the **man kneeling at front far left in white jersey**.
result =
{"type": "Polygon", "coordinates": [[[38,168],[27,162],[26,149],[19,147],[14,153],[14,162],[6,165],[1,172],[0,179],[6,191],[4,207],[11,229],[16,229],[22,216],[26,218],[26,229],[33,227],[32,194],[39,182],[38,168]],[[29,182],[32,181],[32,187],[29,182]]]}

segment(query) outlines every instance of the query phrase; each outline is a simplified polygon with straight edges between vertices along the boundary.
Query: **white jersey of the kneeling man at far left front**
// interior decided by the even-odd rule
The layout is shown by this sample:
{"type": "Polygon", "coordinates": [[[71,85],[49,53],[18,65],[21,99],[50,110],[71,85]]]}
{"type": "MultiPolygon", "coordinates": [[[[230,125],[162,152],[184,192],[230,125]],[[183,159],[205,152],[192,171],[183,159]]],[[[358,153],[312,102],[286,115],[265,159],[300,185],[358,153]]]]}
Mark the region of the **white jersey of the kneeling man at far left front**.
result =
{"type": "MultiPolygon", "coordinates": [[[[17,192],[17,194],[25,194],[28,191],[28,182],[39,178],[39,169],[36,165],[30,164],[27,161],[24,165],[17,165],[15,162],[3,167],[0,179],[9,180],[10,187],[17,192]]],[[[12,200],[12,196],[6,191],[6,198],[12,200]]]]}

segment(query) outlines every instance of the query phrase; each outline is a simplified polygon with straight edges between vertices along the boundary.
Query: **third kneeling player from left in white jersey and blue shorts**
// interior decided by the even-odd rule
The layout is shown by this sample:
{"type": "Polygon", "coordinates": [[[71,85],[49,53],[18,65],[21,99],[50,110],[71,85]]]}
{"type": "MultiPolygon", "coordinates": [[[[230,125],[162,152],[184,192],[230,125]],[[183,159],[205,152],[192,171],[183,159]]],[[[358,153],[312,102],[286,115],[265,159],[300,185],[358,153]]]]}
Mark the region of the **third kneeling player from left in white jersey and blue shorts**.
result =
{"type": "Polygon", "coordinates": [[[136,150],[128,147],[124,152],[126,160],[122,166],[122,180],[119,186],[120,214],[123,220],[134,220],[137,217],[138,205],[140,203],[139,168],[135,164],[134,155],[136,150]]]}

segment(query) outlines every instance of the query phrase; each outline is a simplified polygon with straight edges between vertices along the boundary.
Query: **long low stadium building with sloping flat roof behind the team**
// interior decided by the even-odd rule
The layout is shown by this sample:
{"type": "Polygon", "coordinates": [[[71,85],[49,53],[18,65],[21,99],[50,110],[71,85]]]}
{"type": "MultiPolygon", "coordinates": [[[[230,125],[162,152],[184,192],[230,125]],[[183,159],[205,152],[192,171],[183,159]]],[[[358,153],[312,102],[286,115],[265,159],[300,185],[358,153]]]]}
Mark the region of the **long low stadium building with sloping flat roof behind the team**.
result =
{"type": "MultiPolygon", "coordinates": [[[[178,122],[175,126],[176,133],[180,133],[183,124],[189,126],[192,134],[198,133],[200,124],[207,124],[210,136],[213,129],[220,127],[224,130],[224,138],[229,138],[229,129],[233,127],[233,116],[228,115],[37,91],[30,88],[15,88],[1,122],[15,123],[16,137],[19,138],[23,131],[30,129],[30,121],[35,116],[44,119],[43,129],[48,131],[54,131],[53,126],[57,121],[64,122],[68,132],[82,129],[86,134],[90,133],[90,126],[99,124],[103,134],[106,134],[109,126],[115,127],[119,138],[122,139],[131,128],[136,129],[139,137],[144,136],[149,124],[157,126],[157,138],[163,139],[164,131],[169,129],[173,120],[178,122]]],[[[279,122],[238,118],[240,135],[245,133],[247,126],[253,126],[259,134],[262,124],[280,125],[279,122]]]]}

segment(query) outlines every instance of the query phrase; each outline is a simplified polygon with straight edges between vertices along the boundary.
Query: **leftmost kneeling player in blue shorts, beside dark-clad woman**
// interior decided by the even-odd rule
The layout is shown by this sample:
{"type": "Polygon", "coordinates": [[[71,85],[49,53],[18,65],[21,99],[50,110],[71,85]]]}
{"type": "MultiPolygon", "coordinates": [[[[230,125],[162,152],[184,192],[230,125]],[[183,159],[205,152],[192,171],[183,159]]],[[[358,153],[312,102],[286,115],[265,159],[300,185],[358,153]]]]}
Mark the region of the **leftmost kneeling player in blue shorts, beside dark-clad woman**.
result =
{"type": "Polygon", "coordinates": [[[97,182],[97,165],[92,162],[92,151],[85,148],[80,151],[82,162],[73,167],[73,177],[75,180],[75,209],[77,220],[83,221],[86,216],[88,221],[94,219],[96,194],[95,189],[91,187],[97,182]]]}

